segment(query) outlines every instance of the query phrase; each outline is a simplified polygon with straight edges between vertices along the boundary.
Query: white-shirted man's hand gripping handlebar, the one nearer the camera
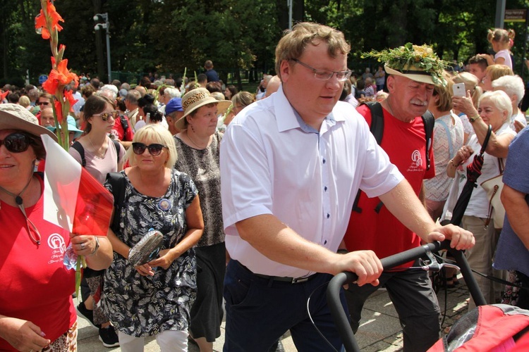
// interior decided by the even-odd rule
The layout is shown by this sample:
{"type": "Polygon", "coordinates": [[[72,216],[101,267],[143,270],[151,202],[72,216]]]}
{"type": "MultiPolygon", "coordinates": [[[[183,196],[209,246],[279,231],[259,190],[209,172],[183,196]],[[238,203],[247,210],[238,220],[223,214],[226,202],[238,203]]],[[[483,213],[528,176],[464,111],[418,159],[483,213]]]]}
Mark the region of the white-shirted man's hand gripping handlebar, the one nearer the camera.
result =
{"type": "Polygon", "coordinates": [[[363,286],[379,284],[378,277],[382,274],[382,263],[373,251],[354,251],[340,254],[336,263],[334,275],[343,271],[355,272],[358,275],[357,284],[363,286]]]}

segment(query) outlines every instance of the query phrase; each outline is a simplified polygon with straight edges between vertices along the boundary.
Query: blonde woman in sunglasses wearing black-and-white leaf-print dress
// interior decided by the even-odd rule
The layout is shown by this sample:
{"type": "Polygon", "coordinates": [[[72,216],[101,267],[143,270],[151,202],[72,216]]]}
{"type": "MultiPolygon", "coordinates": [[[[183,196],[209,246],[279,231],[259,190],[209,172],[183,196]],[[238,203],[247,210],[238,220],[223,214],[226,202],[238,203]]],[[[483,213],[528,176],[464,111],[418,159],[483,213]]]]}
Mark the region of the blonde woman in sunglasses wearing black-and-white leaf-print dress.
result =
{"type": "Polygon", "coordinates": [[[126,158],[120,230],[108,234],[114,261],[104,275],[102,306],[118,330],[121,351],[142,351],[146,336],[156,336],[162,351],[187,351],[197,289],[193,246],[204,229],[197,189],[172,168],[174,139],[160,125],[138,130],[126,158]],[[129,251],[150,230],[164,235],[159,256],[133,266],[129,251]]]}

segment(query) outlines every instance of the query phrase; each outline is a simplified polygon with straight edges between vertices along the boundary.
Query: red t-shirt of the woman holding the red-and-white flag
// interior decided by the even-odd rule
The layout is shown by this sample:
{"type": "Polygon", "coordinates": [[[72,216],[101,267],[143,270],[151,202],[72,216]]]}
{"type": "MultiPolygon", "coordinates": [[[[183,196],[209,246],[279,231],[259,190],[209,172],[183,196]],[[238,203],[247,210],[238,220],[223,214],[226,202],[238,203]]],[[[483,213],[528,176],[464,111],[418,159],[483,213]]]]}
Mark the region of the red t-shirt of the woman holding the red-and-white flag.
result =
{"type": "MultiPolygon", "coordinates": [[[[25,208],[42,237],[37,246],[20,209],[0,202],[0,315],[29,320],[54,341],[77,320],[71,296],[75,270],[63,265],[69,232],[42,219],[43,203],[41,196],[25,208]]],[[[0,351],[16,350],[0,338],[0,351]]]]}

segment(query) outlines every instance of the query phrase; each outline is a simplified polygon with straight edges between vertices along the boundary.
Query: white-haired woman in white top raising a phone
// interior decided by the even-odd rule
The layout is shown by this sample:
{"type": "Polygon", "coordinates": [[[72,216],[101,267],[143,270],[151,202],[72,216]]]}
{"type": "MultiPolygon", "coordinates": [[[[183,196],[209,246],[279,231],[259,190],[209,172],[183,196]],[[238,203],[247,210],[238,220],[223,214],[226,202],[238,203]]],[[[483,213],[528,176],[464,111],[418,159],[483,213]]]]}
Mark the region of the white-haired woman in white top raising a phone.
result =
{"type": "MultiPolygon", "coordinates": [[[[476,241],[473,249],[466,251],[470,267],[483,274],[492,275],[492,258],[498,241],[498,233],[494,230],[492,219],[490,219],[489,226],[485,228],[485,222],[489,216],[489,200],[487,193],[479,184],[499,175],[500,165],[505,163],[509,152],[509,144],[516,136],[516,132],[509,127],[509,118],[512,114],[511,99],[502,91],[486,92],[480,98],[478,111],[475,110],[470,96],[454,96],[454,106],[469,116],[468,120],[475,131],[468,145],[459,149],[446,169],[450,177],[456,176],[457,173],[458,178],[454,182],[459,182],[460,190],[466,182],[466,168],[473,161],[475,153],[480,152],[488,126],[492,126],[478,187],[474,189],[470,197],[462,220],[463,227],[474,234],[476,241]]],[[[475,278],[487,303],[496,303],[494,285],[479,275],[475,275],[475,278]]],[[[474,306],[473,300],[470,299],[469,308],[474,308],[474,306]]]]}

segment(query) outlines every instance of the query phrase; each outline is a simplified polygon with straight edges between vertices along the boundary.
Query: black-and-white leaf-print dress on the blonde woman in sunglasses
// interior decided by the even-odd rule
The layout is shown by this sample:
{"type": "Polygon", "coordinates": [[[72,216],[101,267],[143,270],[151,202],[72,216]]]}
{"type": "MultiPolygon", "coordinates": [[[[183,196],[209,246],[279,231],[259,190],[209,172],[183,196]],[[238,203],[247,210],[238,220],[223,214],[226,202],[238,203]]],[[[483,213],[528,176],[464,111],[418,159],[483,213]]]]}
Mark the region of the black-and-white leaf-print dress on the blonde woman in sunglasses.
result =
{"type": "MultiPolygon", "coordinates": [[[[151,228],[164,234],[162,249],[174,247],[184,237],[186,209],[195,199],[197,189],[188,175],[172,171],[171,184],[162,197],[140,194],[122,171],[127,182],[121,231],[116,236],[123,243],[134,246],[151,228]]],[[[105,186],[111,191],[109,184],[105,186]]],[[[165,330],[188,329],[197,290],[195,251],[183,253],[168,270],[154,269],[153,277],[141,276],[127,259],[114,252],[114,260],[104,275],[102,306],[114,327],[123,334],[143,337],[165,330]]]]}

